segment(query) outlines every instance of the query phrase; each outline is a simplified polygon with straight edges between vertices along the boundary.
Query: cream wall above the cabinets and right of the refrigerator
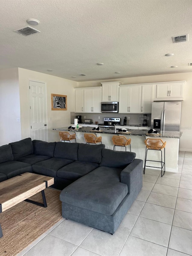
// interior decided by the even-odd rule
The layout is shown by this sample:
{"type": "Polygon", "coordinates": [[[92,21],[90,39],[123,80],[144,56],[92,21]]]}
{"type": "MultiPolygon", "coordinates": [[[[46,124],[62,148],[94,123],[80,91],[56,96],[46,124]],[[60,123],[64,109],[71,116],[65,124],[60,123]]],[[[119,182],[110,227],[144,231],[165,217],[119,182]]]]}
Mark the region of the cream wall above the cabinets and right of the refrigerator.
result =
{"type": "Polygon", "coordinates": [[[168,81],[183,81],[184,84],[184,100],[182,101],[181,125],[180,131],[183,135],[180,139],[180,150],[192,151],[192,73],[164,74],[155,76],[129,77],[110,80],[97,80],[88,82],[79,82],[78,87],[101,86],[100,82],[122,81],[123,84],[135,83],[157,83],[168,81]]]}

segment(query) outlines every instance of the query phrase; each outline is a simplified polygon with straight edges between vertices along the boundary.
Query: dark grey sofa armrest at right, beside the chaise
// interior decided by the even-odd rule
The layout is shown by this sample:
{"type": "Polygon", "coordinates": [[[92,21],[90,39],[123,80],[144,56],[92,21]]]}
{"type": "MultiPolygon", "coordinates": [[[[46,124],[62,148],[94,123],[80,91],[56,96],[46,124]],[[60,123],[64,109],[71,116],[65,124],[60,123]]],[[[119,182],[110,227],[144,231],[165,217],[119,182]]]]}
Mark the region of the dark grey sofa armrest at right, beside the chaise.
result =
{"type": "Polygon", "coordinates": [[[122,170],[121,182],[127,184],[128,193],[130,194],[140,179],[143,180],[143,160],[134,159],[131,164],[122,170]]]}

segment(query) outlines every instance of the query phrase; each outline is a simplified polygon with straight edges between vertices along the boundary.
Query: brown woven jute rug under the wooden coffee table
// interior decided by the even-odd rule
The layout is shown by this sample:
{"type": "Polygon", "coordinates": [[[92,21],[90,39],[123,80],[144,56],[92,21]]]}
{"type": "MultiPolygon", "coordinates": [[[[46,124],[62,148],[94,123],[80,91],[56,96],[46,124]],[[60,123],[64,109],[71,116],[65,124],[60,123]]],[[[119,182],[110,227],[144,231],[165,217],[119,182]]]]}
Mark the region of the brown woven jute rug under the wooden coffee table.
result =
{"type": "MultiPolygon", "coordinates": [[[[44,191],[46,208],[23,201],[0,213],[3,231],[0,256],[16,255],[62,218],[60,191],[52,188],[44,191]]],[[[41,192],[30,199],[43,203],[41,192]]]]}

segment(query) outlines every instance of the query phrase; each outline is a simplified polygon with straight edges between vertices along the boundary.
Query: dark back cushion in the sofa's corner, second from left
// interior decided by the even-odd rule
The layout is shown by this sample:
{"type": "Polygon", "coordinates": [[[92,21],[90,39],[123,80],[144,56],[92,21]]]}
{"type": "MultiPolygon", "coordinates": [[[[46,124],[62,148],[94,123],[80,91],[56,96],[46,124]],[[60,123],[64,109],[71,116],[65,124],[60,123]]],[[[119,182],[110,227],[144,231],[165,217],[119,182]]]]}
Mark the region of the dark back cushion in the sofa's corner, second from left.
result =
{"type": "Polygon", "coordinates": [[[31,138],[12,142],[9,143],[9,145],[11,145],[14,160],[25,155],[33,154],[33,143],[31,138]]]}

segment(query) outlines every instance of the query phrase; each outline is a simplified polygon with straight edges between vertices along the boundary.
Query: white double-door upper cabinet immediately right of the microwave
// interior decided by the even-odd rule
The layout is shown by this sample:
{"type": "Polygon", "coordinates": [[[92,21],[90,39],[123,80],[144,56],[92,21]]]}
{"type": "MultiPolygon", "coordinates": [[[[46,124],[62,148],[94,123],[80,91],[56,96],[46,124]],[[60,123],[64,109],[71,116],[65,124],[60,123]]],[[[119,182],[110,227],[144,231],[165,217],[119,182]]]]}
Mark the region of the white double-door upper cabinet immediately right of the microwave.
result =
{"type": "Polygon", "coordinates": [[[141,112],[142,86],[122,86],[119,88],[119,113],[141,112]]]}

